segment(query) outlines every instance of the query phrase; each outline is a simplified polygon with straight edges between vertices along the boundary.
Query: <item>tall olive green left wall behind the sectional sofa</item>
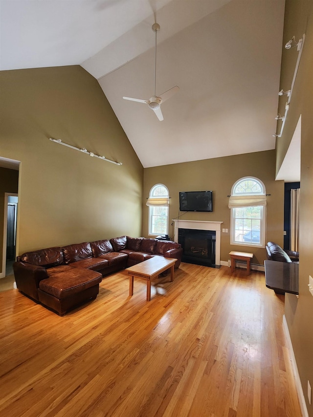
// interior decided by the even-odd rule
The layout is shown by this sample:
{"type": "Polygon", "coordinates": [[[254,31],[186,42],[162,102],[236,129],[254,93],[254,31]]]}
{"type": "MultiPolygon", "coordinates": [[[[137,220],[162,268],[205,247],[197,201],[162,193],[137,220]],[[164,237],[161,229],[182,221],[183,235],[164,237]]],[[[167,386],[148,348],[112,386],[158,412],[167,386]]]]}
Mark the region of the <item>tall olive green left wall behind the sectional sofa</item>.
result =
{"type": "Polygon", "coordinates": [[[0,156],[21,161],[18,253],[139,236],[143,167],[97,80],[63,66],[1,71],[0,82],[0,156]]]}

